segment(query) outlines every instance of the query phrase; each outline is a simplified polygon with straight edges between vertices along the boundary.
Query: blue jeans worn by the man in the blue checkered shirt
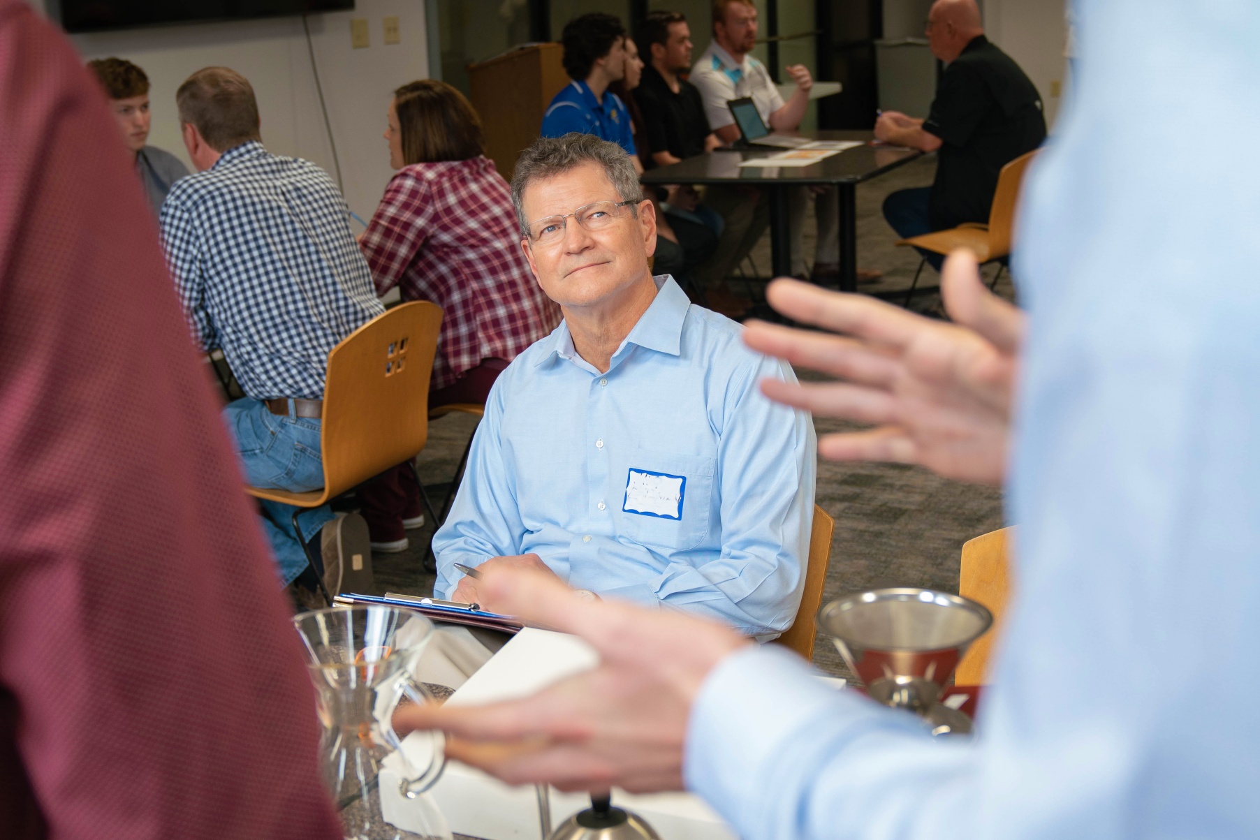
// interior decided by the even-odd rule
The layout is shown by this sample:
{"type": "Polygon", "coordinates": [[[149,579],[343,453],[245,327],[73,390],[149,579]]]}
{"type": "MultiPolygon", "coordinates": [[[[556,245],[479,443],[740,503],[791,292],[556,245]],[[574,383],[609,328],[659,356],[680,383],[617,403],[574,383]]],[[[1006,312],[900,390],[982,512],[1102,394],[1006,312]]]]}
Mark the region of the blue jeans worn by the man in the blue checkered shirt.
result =
{"type": "MultiPolygon", "coordinates": [[[[324,486],[320,460],[320,421],[272,414],[267,404],[246,397],[223,409],[223,421],[236,441],[244,466],[244,477],[256,487],[305,492],[324,486]]],[[[299,524],[306,540],[316,536],[333,510],[299,509],[278,501],[261,500],[262,529],[271,543],[281,586],[289,586],[306,568],[306,550],[294,531],[294,511],[302,510],[299,524]]]]}

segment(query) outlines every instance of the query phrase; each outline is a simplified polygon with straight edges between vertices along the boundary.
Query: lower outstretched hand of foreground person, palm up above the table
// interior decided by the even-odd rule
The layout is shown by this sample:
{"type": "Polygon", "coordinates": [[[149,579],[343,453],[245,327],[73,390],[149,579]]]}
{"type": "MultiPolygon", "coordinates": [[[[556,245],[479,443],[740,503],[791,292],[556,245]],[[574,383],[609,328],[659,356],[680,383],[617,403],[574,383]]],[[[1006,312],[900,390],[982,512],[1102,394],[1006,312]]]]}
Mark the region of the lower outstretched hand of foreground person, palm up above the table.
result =
{"type": "Polygon", "coordinates": [[[490,608],[581,636],[598,651],[600,666],[520,700],[406,707],[394,728],[442,729],[450,758],[510,785],[682,790],[696,694],[723,657],[751,642],[674,610],[583,601],[554,576],[499,567],[480,583],[490,608]]]}

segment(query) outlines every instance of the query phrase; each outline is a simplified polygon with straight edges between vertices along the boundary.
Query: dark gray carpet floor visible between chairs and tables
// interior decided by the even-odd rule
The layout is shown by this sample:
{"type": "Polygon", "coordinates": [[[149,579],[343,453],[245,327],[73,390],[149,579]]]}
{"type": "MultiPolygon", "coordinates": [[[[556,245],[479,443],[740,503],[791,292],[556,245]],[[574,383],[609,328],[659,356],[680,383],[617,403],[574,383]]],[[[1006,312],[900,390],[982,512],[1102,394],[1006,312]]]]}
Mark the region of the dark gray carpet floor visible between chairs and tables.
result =
{"type": "MultiPolygon", "coordinates": [[[[901,169],[858,186],[858,264],[885,272],[877,282],[863,285],[866,292],[905,290],[910,286],[919,257],[897,248],[896,234],[883,222],[879,208],[896,189],[931,184],[935,159],[916,160],[901,169]]],[[[813,253],[813,222],[806,223],[806,254],[813,253]]],[[[770,246],[764,239],[752,262],[769,268],[770,246]]],[[[992,277],[993,268],[987,271],[992,277]]],[[[936,286],[931,268],[924,270],[921,286],[936,286]]],[[[1009,280],[999,293],[1012,296],[1009,280]]],[[[917,296],[912,309],[932,312],[935,293],[917,296]]],[[[800,372],[803,378],[818,378],[800,372]]],[[[476,421],[449,414],[430,424],[430,440],[418,460],[426,485],[449,482],[476,421]]],[[[832,419],[816,419],[819,436],[856,428],[832,419]]],[[[436,494],[433,504],[441,504],[436,494]]],[[[818,504],[835,518],[835,538],[827,574],[824,603],[845,592],[871,587],[915,586],[958,592],[959,552],[968,539],[1002,526],[1002,494],[998,490],[946,481],[931,472],[903,465],[820,462],[818,504]]],[[[432,574],[423,570],[423,553],[430,530],[411,533],[412,547],[401,554],[373,558],[381,592],[431,594],[432,574]]],[[[823,671],[852,676],[825,637],[814,647],[814,664],[823,671]]]]}

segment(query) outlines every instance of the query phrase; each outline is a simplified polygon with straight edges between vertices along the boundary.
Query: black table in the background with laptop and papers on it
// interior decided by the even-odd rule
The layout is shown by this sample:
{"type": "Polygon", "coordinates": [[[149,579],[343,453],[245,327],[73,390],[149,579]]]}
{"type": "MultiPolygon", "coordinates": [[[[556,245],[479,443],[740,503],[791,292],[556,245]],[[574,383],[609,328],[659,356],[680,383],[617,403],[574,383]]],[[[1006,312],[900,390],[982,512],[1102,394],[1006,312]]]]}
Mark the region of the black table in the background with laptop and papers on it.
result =
{"type": "Polygon", "coordinates": [[[775,277],[791,275],[791,230],[789,225],[789,186],[834,186],[839,194],[840,220],[840,290],[852,292],[858,287],[857,256],[857,205],[856,188],[862,181],[878,178],[887,171],[922,155],[917,149],[901,146],[872,146],[874,135],[869,131],[803,131],[799,136],[810,140],[861,141],[861,146],[825,157],[809,166],[757,167],[740,164],[752,157],[769,157],[785,151],[772,146],[746,149],[718,149],[704,155],[688,157],[678,164],[660,166],[644,173],[644,184],[743,184],[770,190],[770,253],[775,277]]]}

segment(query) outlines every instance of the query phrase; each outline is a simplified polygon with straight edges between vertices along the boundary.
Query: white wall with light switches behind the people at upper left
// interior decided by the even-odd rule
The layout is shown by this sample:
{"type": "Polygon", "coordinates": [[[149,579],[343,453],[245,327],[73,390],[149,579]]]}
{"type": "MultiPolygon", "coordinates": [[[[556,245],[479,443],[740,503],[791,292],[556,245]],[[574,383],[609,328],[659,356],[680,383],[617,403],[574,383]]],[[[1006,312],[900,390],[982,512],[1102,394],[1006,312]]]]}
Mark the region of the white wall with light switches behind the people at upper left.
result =
{"type": "MultiPolygon", "coordinates": [[[[42,9],[43,0],[32,0],[42,9]]],[[[389,94],[428,77],[423,0],[357,0],[355,10],[310,16],[346,201],[370,218],[392,170],[381,136],[389,94]],[[399,18],[401,44],[384,44],[383,18],[399,18]],[[353,49],[350,19],[367,18],[370,47],[353,49]]],[[[253,84],[267,149],[315,161],[336,176],[300,18],[186,24],[72,35],[84,60],[117,55],[135,62],[151,83],[149,142],[188,156],[179,136],[175,89],[209,64],[231,67],[253,84]]],[[[354,225],[357,228],[357,225],[354,225]]]]}

